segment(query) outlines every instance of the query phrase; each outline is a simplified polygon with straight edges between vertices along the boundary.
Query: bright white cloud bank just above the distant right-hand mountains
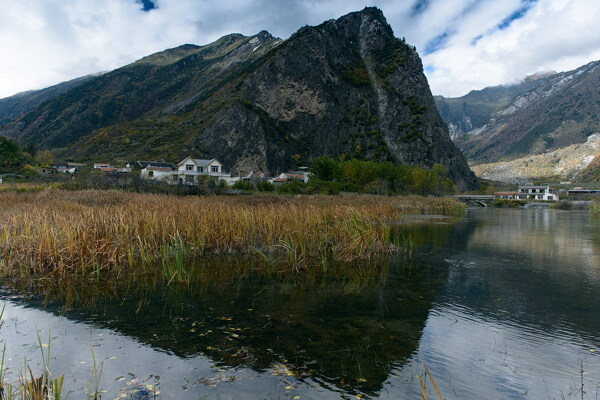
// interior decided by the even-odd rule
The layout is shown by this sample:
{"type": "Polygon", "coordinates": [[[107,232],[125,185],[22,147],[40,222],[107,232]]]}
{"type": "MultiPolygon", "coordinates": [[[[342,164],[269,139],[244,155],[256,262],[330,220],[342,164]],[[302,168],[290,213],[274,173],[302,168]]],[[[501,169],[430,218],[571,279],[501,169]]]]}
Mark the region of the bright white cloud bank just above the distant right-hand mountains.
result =
{"type": "Polygon", "coordinates": [[[459,96],[539,71],[566,71],[600,59],[596,0],[540,0],[521,19],[475,45],[466,38],[424,57],[434,93],[459,96]]]}

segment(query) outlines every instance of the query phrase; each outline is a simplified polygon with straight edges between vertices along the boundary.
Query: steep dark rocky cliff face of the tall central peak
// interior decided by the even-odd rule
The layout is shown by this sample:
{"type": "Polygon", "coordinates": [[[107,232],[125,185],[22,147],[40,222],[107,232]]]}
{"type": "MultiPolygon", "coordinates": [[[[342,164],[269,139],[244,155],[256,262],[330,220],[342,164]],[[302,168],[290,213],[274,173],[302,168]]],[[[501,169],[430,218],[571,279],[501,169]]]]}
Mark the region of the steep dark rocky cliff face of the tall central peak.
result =
{"type": "MultiPolygon", "coordinates": [[[[423,167],[439,162],[462,187],[475,185],[435,108],[418,54],[394,37],[378,9],[301,29],[225,97],[239,97],[258,116],[264,131],[258,142],[266,150],[261,168],[288,168],[295,155],[310,162],[345,154],[423,167]]],[[[214,136],[215,127],[209,130],[201,142],[214,136]]]]}

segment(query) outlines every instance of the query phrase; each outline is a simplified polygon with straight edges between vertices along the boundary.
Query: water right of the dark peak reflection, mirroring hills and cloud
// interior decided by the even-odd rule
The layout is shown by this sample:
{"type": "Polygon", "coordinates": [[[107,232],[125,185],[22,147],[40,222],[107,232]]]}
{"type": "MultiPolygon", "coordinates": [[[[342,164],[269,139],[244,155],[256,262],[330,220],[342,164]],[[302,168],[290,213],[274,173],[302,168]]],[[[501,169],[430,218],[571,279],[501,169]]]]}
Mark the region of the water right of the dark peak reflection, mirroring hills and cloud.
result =
{"type": "Polygon", "coordinates": [[[448,281],[419,348],[446,396],[597,398],[598,221],[577,211],[478,210],[461,224],[471,227],[463,246],[455,240],[432,255],[449,265],[448,281]]]}

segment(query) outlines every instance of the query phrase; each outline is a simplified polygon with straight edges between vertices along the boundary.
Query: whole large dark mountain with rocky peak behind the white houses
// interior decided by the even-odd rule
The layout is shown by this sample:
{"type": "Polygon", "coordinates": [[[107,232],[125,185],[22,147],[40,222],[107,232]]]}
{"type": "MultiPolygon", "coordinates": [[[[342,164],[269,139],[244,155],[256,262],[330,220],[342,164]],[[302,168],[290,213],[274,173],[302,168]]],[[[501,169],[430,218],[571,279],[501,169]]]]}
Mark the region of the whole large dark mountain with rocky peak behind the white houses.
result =
{"type": "Polygon", "coordinates": [[[414,47],[365,8],[282,41],[185,45],[92,79],[0,128],[62,158],[219,158],[277,172],[321,155],[444,165],[478,186],[414,47]]]}

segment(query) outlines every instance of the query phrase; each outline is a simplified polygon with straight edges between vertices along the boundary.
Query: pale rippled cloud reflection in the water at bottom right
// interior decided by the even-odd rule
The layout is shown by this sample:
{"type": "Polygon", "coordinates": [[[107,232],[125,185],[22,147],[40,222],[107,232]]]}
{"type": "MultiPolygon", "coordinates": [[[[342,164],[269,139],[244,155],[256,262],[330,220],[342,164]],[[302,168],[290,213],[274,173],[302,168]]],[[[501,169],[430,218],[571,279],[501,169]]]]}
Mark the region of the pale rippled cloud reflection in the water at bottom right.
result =
{"type": "Polygon", "coordinates": [[[449,304],[432,309],[418,358],[444,398],[566,398],[581,383],[581,361],[584,371],[592,370],[584,375],[586,390],[593,394],[600,383],[598,357],[589,351],[596,344],[573,332],[549,334],[449,304]]]}

